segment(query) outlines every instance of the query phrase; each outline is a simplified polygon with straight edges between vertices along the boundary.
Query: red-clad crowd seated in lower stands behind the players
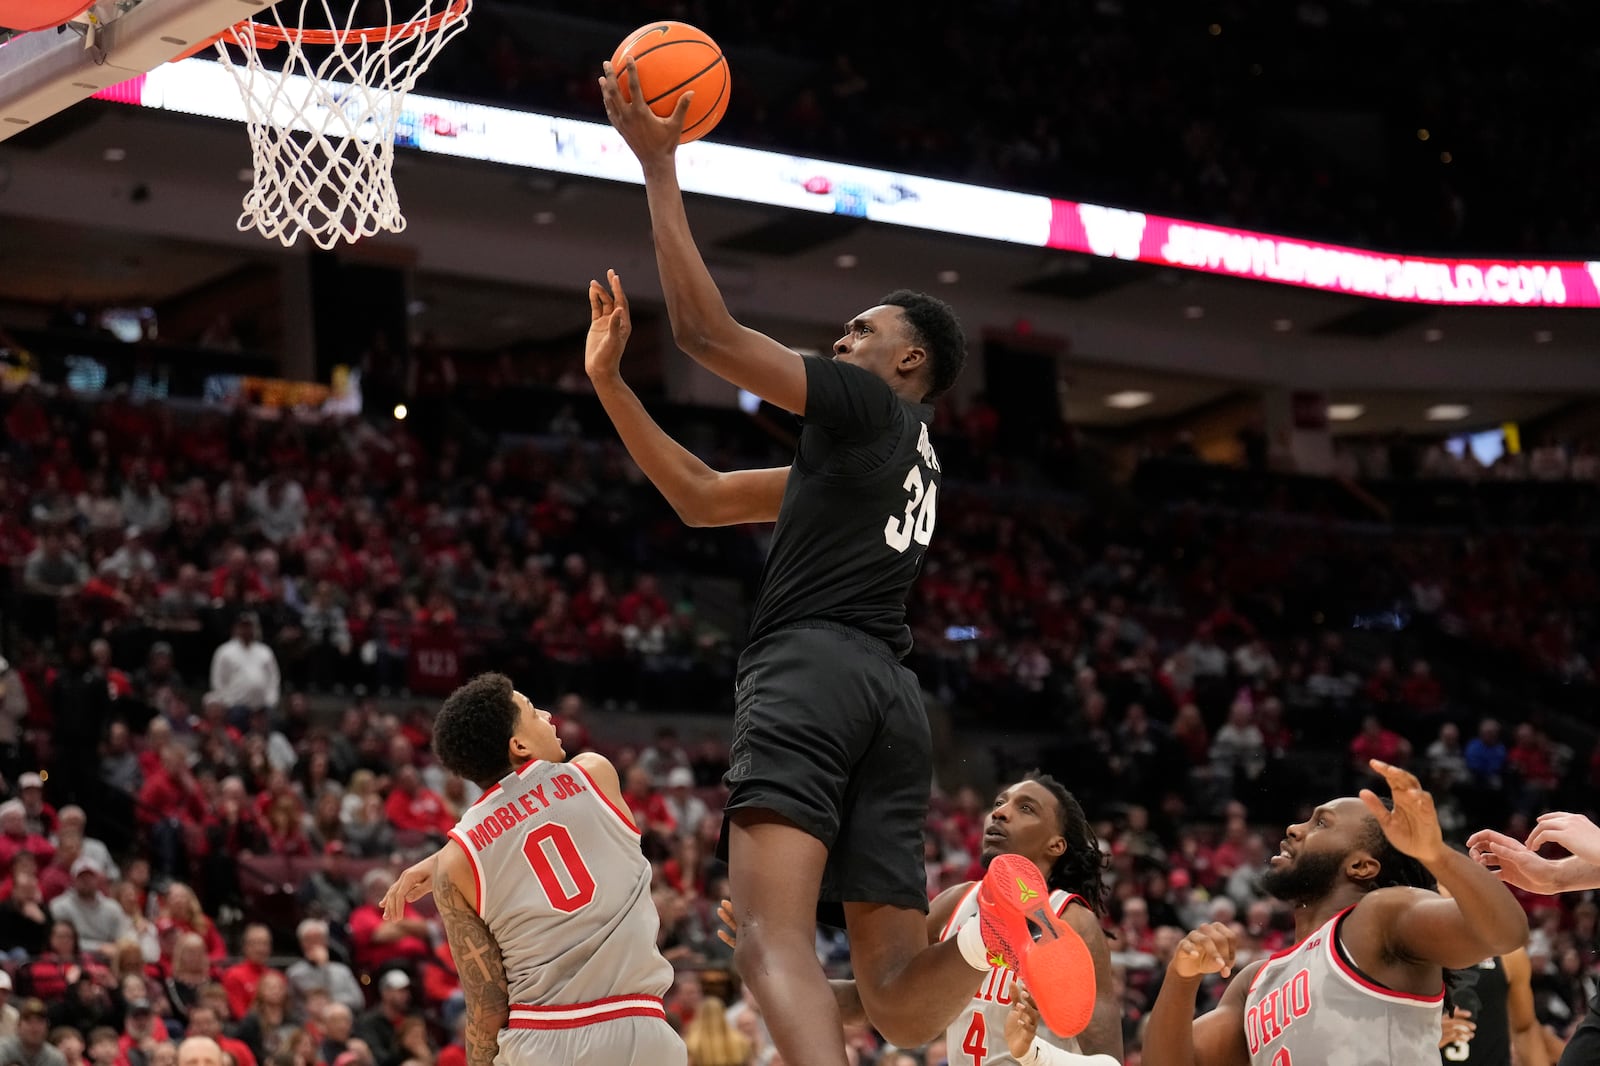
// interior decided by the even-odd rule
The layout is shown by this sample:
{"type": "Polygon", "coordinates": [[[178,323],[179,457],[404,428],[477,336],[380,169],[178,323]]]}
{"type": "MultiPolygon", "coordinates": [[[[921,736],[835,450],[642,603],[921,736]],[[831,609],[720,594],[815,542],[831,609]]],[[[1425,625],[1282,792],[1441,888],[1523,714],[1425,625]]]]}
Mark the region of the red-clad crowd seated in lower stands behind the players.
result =
{"type": "MultiPolygon", "coordinates": [[[[568,751],[616,760],[696,1063],[768,1061],[715,936],[726,738],[664,717],[629,746],[586,711],[725,706],[738,632],[685,591],[707,557],[754,575],[758,530],[707,552],[594,442],[424,447],[405,423],[0,402],[0,1039],[48,1039],[70,1066],[170,1066],[186,1032],[222,1037],[234,1066],[459,1066],[435,916],[384,925],[376,901],[474,800],[429,755],[427,707],[494,666],[570,693],[568,751]]],[[[976,405],[947,432],[971,458],[994,421],[976,405]]],[[[1587,679],[1581,538],[1118,519],[949,488],[915,666],[958,723],[1045,736],[1045,768],[1096,821],[1134,1053],[1179,930],[1286,943],[1262,863],[1306,800],[1370,783],[1368,757],[1418,770],[1456,840],[1523,832],[1600,783],[1600,747],[1560,722],[1486,707],[1410,635],[1341,621],[1400,595],[1437,647],[1587,679]]],[[[1002,781],[1032,765],[997,759],[1002,781]]],[[[941,784],[930,895],[979,871],[987,807],[941,784]]],[[[1595,981],[1595,903],[1525,903],[1539,1015],[1566,1031],[1595,981]]],[[[843,972],[838,935],[818,952],[843,972]]],[[[947,1061],[853,1040],[862,1063],[947,1061]]]]}

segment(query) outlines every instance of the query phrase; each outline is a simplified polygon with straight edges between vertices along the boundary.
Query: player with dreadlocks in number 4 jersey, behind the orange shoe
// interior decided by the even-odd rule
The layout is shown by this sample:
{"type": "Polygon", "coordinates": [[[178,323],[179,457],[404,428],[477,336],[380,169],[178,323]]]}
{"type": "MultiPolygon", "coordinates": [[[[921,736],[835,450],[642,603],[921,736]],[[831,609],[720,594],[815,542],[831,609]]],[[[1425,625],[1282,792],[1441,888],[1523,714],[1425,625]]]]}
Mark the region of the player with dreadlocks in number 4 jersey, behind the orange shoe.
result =
{"type": "MultiPolygon", "coordinates": [[[[1090,1055],[1109,1055],[1122,1061],[1122,1002],[1117,999],[1112,980],[1110,949],[1101,930],[1101,914],[1106,909],[1101,871],[1106,860],[1083,807],[1059,781],[1037,770],[1000,789],[984,820],[984,869],[1002,855],[1016,855],[1038,866],[1050,887],[1053,912],[1088,944],[1090,957],[1094,960],[1094,1015],[1077,1039],[1069,1039],[1038,1026],[1035,1013],[1030,1047],[1021,1060],[1014,1058],[1005,1036],[1006,1015],[1016,996],[1014,975],[1005,964],[995,960],[978,992],[946,1028],[950,1061],[973,1066],[1018,1061],[1027,1066],[1048,1063],[1088,1066],[1090,1055]],[[957,1048],[962,1058],[957,1058],[957,1048]]],[[[978,888],[979,882],[970,880],[946,888],[934,898],[928,908],[930,941],[955,936],[962,924],[978,914],[978,888]]],[[[726,900],[718,914],[730,930],[738,930],[726,900]]],[[[718,935],[728,944],[734,943],[728,933],[718,935]]],[[[845,1024],[866,1024],[867,1016],[856,994],[856,983],[832,981],[832,986],[845,1024]]],[[[1101,1063],[1106,1060],[1094,1060],[1094,1066],[1101,1063]]]]}

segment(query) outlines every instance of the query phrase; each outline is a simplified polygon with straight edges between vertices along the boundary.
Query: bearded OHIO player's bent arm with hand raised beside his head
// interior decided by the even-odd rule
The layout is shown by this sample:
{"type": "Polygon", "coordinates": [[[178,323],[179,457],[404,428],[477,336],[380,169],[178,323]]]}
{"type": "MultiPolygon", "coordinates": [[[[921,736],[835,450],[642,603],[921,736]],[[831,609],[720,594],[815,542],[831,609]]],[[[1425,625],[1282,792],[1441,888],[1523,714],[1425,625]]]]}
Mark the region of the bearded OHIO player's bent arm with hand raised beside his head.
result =
{"type": "MultiPolygon", "coordinates": [[[[1526,944],[1528,916],[1522,904],[1494,874],[1445,844],[1434,797],[1416,775],[1378,759],[1371,767],[1389,783],[1394,810],[1386,810],[1371,789],[1362,789],[1362,802],[1389,842],[1422,863],[1450,898],[1421,888],[1384,888],[1362,903],[1352,922],[1376,922],[1394,956],[1450,970],[1526,944]]],[[[1350,932],[1355,935],[1354,925],[1350,932]]]]}

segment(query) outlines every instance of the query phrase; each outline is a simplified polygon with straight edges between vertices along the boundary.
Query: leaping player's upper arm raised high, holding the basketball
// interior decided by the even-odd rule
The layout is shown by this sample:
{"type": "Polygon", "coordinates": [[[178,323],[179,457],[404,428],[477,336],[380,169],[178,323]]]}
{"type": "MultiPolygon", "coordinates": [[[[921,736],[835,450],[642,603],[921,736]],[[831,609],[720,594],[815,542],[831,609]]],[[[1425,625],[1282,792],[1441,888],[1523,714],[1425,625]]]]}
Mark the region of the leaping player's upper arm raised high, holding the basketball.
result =
{"type": "Polygon", "coordinates": [[[650,198],[650,224],[656,238],[656,269],[672,319],[672,339],[701,367],[723,381],[749,389],[768,403],[805,415],[805,365],[802,357],[773,338],[747,330],[728,314],[717,291],[683,211],[678,189],[677,149],[688,110],[690,93],[678,101],[669,118],[661,118],[637,91],[634,61],[626,70],[605,64],[600,94],[605,114],[622,134],[645,168],[645,194],[650,198]],[[632,78],[632,101],[624,101],[618,77],[632,78]]]}

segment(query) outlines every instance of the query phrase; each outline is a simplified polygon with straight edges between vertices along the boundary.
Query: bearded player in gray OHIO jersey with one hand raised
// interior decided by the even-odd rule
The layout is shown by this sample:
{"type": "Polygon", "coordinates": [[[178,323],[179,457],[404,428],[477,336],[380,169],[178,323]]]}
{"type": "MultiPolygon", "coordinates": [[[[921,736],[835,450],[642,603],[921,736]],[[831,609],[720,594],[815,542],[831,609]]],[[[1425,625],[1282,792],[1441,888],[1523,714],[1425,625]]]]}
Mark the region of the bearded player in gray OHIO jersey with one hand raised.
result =
{"type": "Polygon", "coordinates": [[[1445,845],[1411,773],[1371,767],[1392,804],[1370,789],[1323,804],[1288,828],[1262,874],[1262,888],[1294,904],[1296,944],[1243,967],[1195,1018],[1202,978],[1232,975],[1237,940],[1218,922],[1189,933],[1150,1010],[1146,1066],[1438,1063],[1445,970],[1522,948],[1528,917],[1445,845]]]}

